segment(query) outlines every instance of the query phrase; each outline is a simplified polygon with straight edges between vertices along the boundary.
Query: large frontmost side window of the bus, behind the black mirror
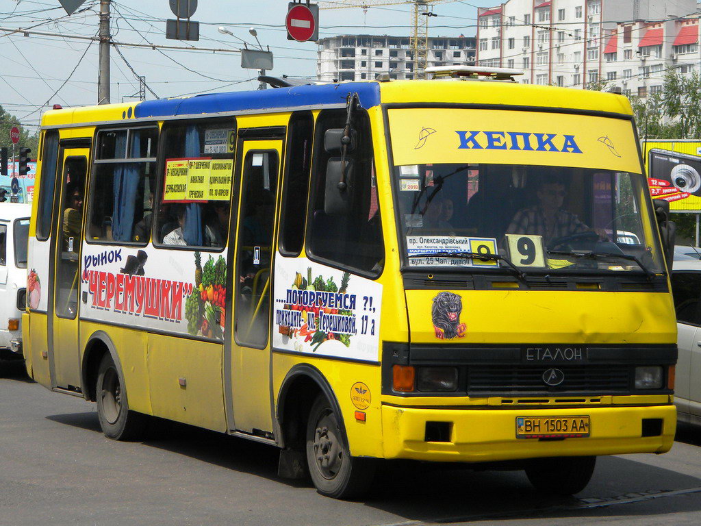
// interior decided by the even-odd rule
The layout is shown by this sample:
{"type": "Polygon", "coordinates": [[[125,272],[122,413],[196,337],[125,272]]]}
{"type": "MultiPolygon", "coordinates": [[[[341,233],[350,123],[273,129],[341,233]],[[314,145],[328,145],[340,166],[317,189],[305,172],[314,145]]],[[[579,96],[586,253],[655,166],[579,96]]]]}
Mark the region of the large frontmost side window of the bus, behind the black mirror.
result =
{"type": "Polygon", "coordinates": [[[325,151],[324,134],[329,128],[343,128],[345,123],[345,110],[325,110],[320,112],[317,119],[307,218],[307,252],[311,259],[319,262],[355,269],[368,276],[379,276],[384,262],[384,245],[370,124],[367,113],[362,110],[353,114],[358,144],[349,156],[354,166],[353,180],[348,184],[350,211],[345,215],[329,215],[325,211],[326,170],[334,156],[325,151]]]}

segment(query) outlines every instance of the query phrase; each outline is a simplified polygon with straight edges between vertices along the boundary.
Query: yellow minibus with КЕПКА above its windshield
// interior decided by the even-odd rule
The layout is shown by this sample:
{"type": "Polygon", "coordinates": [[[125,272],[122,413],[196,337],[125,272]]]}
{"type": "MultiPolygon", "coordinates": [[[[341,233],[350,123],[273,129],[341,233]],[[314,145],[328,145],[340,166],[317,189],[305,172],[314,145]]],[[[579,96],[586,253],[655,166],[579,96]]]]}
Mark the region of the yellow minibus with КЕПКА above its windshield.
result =
{"type": "Polygon", "coordinates": [[[44,114],[29,375],[109,438],[257,440],[336,498],[385,459],[571,494],[669,450],[672,227],[628,100],[434,73],[44,114]]]}

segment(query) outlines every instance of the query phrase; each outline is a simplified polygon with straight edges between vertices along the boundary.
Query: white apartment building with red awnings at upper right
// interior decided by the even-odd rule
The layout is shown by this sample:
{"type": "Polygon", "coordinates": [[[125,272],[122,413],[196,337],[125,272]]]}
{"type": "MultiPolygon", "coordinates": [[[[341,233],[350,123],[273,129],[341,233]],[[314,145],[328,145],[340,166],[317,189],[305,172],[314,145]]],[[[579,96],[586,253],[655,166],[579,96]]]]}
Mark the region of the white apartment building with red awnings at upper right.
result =
{"type": "Polygon", "coordinates": [[[695,1],[508,0],[477,11],[477,63],[515,67],[524,83],[619,86],[646,97],[669,67],[698,70],[695,1]],[[645,18],[640,18],[644,16],[645,18]],[[652,18],[651,18],[652,17],[652,18]]]}

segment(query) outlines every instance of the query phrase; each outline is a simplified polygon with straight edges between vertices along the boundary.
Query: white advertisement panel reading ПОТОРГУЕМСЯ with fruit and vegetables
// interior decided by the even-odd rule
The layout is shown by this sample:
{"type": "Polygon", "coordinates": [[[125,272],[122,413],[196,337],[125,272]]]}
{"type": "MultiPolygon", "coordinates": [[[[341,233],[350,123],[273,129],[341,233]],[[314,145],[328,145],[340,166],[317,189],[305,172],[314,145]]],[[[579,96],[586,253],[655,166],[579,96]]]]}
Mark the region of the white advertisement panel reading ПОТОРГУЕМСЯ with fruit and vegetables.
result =
{"type": "Polygon", "coordinates": [[[273,347],[379,360],[382,285],[304,257],[275,262],[273,347]]]}

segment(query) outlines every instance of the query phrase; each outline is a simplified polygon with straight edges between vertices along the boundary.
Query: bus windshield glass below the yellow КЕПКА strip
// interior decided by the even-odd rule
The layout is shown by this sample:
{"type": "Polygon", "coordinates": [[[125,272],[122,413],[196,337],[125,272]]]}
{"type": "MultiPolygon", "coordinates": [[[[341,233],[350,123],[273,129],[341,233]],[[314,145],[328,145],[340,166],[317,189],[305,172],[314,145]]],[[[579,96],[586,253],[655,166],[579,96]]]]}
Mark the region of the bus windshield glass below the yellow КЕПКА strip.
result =
{"type": "Polygon", "coordinates": [[[393,184],[409,267],[664,269],[639,174],[436,163],[395,166],[393,184]],[[486,252],[501,257],[475,257],[486,252]]]}

